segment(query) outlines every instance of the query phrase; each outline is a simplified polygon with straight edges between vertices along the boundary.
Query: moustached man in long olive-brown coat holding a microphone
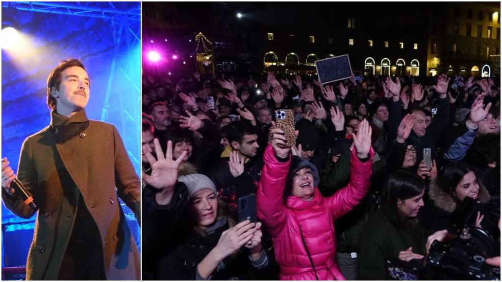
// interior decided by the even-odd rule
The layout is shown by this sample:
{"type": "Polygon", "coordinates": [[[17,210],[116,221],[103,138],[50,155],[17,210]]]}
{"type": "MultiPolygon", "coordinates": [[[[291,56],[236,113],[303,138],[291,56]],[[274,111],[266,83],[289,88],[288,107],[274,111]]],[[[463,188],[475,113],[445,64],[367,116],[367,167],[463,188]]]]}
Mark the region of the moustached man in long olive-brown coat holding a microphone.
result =
{"type": "Polygon", "coordinates": [[[36,210],[11,186],[17,177],[39,213],[27,279],[138,280],[140,254],[117,195],[140,220],[140,180],[117,129],[87,119],[90,79],[77,59],[47,79],[51,123],[23,143],[18,175],[2,160],[2,199],[16,215],[36,210]]]}

